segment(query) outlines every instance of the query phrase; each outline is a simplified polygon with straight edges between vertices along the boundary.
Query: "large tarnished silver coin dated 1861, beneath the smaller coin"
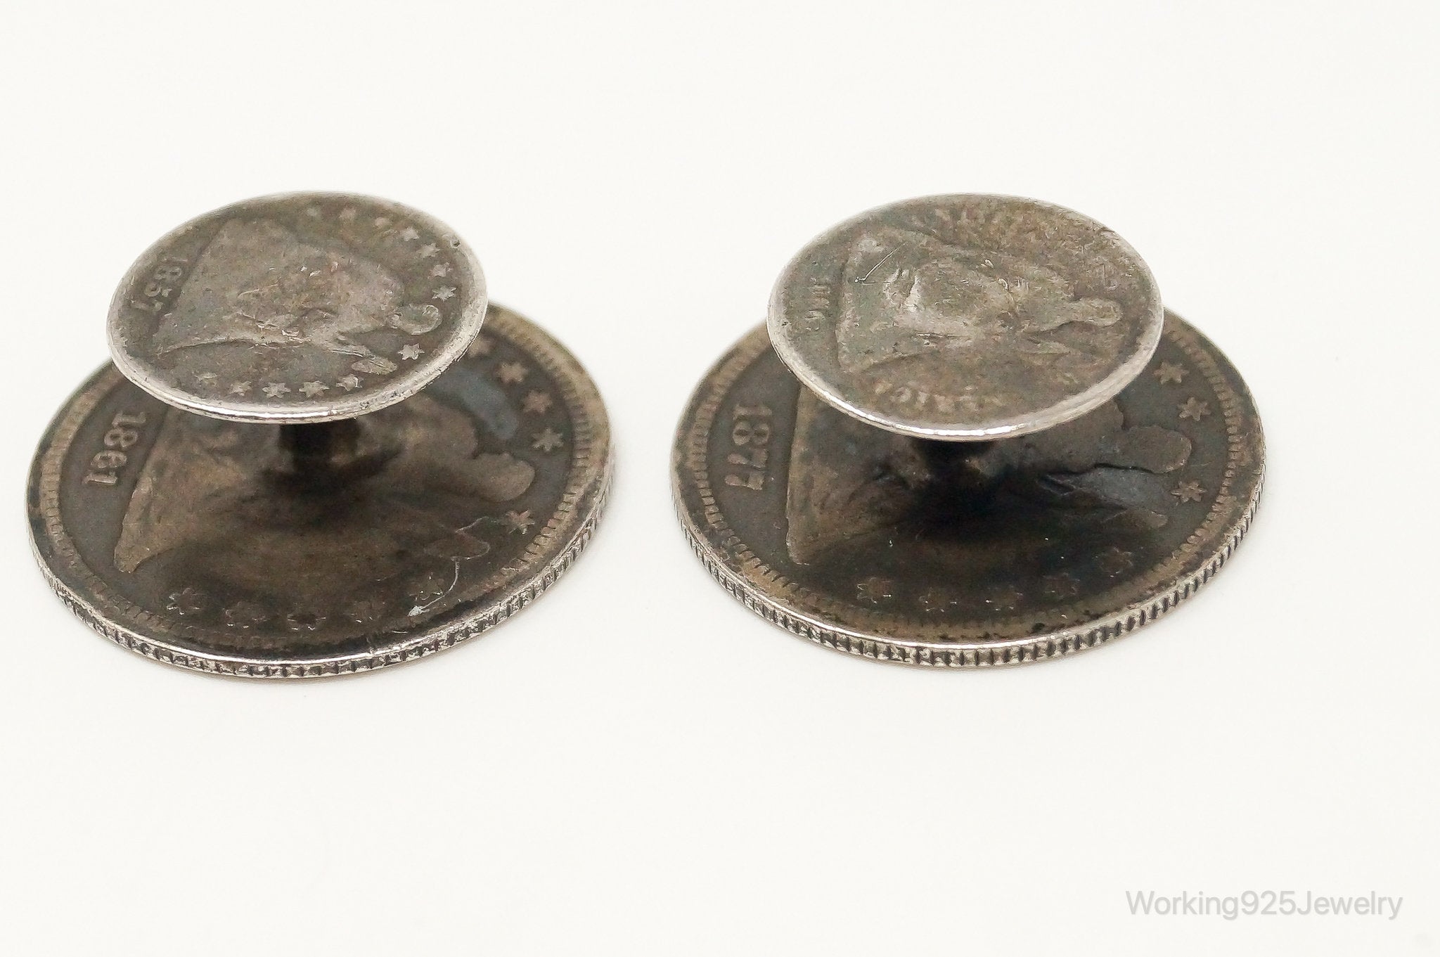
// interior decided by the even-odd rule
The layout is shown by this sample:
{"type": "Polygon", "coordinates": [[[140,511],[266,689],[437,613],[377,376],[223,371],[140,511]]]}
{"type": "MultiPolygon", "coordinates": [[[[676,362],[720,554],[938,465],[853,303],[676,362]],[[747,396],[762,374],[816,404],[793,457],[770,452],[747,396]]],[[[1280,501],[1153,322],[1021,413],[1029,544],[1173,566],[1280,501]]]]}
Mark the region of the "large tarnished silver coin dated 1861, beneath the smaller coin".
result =
{"type": "MultiPolygon", "coordinates": [[[[328,471],[287,429],[192,416],[107,366],[29,479],[35,553],[86,623],[240,676],[369,671],[524,607],[589,541],[609,426],[585,370],[514,312],[429,389],[354,420],[328,471]]],[[[348,427],[348,426],[347,426],[348,427]]]]}

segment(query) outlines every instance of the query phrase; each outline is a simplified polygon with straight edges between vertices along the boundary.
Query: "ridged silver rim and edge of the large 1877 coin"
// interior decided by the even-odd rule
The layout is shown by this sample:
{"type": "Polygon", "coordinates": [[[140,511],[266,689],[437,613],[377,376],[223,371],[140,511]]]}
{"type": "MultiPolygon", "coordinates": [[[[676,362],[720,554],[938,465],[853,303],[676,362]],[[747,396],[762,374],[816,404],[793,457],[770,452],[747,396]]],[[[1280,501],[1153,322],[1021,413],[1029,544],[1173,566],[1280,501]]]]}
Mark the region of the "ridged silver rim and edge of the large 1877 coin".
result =
{"type": "MultiPolygon", "coordinates": [[[[1202,340],[1208,343],[1208,340],[1204,340],[1204,335],[1194,330],[1194,327],[1184,324],[1184,321],[1181,322],[1184,328],[1176,338],[1181,340],[1181,345],[1185,348],[1187,354],[1202,366],[1214,366],[1211,357],[1200,348],[1198,343],[1194,341],[1202,340]]],[[[685,412],[681,416],[675,432],[671,468],[671,495],[685,541],[690,544],[691,550],[700,558],[700,563],[706,567],[710,576],[714,577],[726,591],[740,600],[740,603],[747,609],[765,620],[783,627],[792,635],[796,635],[798,638],[804,638],[832,650],[847,652],[861,658],[933,668],[984,668],[992,665],[1017,665],[1048,661],[1051,658],[1063,658],[1128,635],[1135,629],[1156,620],[1181,602],[1194,596],[1200,587],[1210,581],[1210,579],[1212,579],[1225,564],[1254,521],[1256,511],[1260,505],[1260,494],[1264,488],[1264,435],[1260,427],[1259,413],[1256,414],[1254,422],[1254,486],[1246,499],[1241,512],[1230,521],[1227,534],[1221,538],[1205,561],[1202,561],[1194,571],[1175,579],[1172,583],[1162,587],[1158,593],[1148,599],[1128,603],[1099,620],[1090,620],[1083,625],[1047,632],[1044,635],[1025,635],[1014,639],[999,639],[992,642],[942,642],[923,639],[901,640],[887,638],[876,632],[850,629],[824,622],[814,614],[801,612],[799,609],[791,607],[766,596],[765,593],[757,591],[755,586],[747,583],[742,576],[730,568],[720,553],[706,538],[706,534],[697,527],[694,517],[688,512],[684,501],[687,472],[696,472],[696,492],[700,498],[700,504],[704,507],[707,515],[714,512],[714,515],[720,518],[723,525],[720,531],[727,532],[734,544],[742,545],[742,557],[746,558],[747,568],[753,566],[752,570],[759,577],[780,586],[788,584],[783,576],[770,570],[759,557],[750,553],[739,538],[734,537],[734,532],[729,530],[729,524],[724,522],[723,515],[720,515],[714,496],[708,492],[708,481],[701,479],[698,471],[690,468],[693,456],[697,455],[697,448],[703,445],[704,436],[697,436],[696,432],[701,427],[701,420],[707,417],[706,406],[711,403],[711,400],[714,404],[719,404],[719,399],[729,391],[739,374],[747,368],[749,364],[765,351],[765,348],[769,348],[768,337],[755,337],[755,332],[762,330],[765,330],[763,324],[757,330],[746,334],[710,370],[707,370],[701,378],[701,386],[697,387],[690,402],[687,402],[685,412]]],[[[1211,348],[1214,348],[1212,344],[1211,348]]],[[[1217,348],[1215,353],[1218,354],[1220,350],[1217,348]]],[[[1238,373],[1236,374],[1238,377],[1238,373]]],[[[1221,402],[1224,404],[1230,406],[1236,402],[1237,396],[1230,389],[1228,383],[1225,383],[1220,376],[1218,370],[1211,368],[1207,378],[1211,380],[1212,386],[1217,386],[1217,394],[1221,396],[1221,402]]],[[[1243,381],[1240,383],[1240,387],[1241,390],[1244,389],[1243,381]]],[[[1250,400],[1250,404],[1253,407],[1253,399],[1250,400]]],[[[708,417],[713,419],[713,414],[714,410],[710,410],[708,417]]],[[[1227,416],[1227,419],[1230,419],[1230,416],[1227,416]]],[[[708,435],[708,427],[703,429],[703,432],[708,435]]],[[[1201,528],[1220,518],[1220,507],[1224,501],[1227,501],[1228,488],[1236,475],[1234,452],[1238,437],[1236,426],[1230,422],[1227,422],[1227,439],[1231,446],[1231,462],[1225,469],[1223,488],[1217,494],[1217,501],[1211,508],[1211,514],[1207,515],[1201,528]]],[[[1168,560],[1156,566],[1158,573],[1164,574],[1164,570],[1168,566],[1179,563],[1185,553],[1187,548],[1182,545],[1168,560]]],[[[900,616],[890,616],[888,620],[899,622],[901,626],[906,623],[900,619],[900,616]]]]}

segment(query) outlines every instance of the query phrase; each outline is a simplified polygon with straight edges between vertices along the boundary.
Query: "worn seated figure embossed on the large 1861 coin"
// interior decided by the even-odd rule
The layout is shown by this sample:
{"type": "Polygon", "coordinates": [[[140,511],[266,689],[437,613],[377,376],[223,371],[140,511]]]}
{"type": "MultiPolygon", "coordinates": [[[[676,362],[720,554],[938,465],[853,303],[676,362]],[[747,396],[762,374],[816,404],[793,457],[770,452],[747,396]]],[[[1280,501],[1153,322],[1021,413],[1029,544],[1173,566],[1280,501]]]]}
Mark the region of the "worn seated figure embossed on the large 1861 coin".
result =
{"type": "Polygon", "coordinates": [[[444,570],[485,555],[508,534],[498,517],[530,491],[536,469],[503,450],[518,416],[500,386],[469,368],[446,376],[469,403],[432,390],[364,416],[334,484],[297,471],[274,426],[166,409],[115,568],[324,609],[413,571],[416,555],[444,570]]]}

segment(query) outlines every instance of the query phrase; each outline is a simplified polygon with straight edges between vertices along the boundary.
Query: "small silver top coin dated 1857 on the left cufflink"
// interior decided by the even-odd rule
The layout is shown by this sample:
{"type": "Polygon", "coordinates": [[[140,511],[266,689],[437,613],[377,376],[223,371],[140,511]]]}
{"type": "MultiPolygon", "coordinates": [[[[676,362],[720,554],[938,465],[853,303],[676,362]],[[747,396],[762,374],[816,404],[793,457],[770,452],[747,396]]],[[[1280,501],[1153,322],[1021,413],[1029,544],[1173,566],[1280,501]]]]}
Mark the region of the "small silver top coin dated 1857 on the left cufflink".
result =
{"type": "Polygon", "coordinates": [[[344,193],[245,200],[135,260],[109,350],[173,406],[240,422],[328,422],[406,399],[465,353],[485,276],[444,223],[344,193]]]}

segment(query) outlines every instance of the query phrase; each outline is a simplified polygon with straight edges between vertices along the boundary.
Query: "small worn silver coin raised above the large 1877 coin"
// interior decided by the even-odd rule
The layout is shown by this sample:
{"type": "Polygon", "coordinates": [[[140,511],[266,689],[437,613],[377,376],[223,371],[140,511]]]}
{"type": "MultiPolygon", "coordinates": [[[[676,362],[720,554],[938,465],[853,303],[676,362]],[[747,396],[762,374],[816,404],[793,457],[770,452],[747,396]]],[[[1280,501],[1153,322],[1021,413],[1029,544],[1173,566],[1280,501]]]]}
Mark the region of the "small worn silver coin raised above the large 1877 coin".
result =
{"type": "Polygon", "coordinates": [[[1125,387],[1161,340],[1145,260],[1100,223],[1012,196],[929,196],[814,239],[769,331],[829,404],[926,439],[1038,432],[1125,387]]]}

